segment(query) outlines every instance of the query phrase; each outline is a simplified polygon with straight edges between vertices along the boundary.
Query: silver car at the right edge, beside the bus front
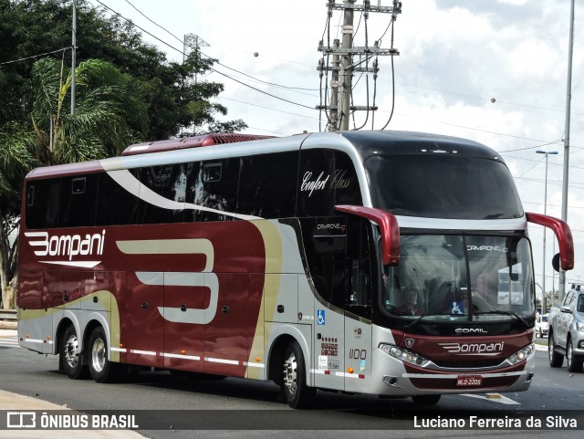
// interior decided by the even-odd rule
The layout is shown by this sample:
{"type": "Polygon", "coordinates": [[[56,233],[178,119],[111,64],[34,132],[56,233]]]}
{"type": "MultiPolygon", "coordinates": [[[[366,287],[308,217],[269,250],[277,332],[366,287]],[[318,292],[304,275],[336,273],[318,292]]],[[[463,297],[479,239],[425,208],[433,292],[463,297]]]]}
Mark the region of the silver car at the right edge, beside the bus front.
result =
{"type": "Polygon", "coordinates": [[[564,357],[568,371],[582,371],[584,364],[584,290],[572,288],[561,307],[552,307],[547,319],[549,365],[561,367],[564,357]]]}

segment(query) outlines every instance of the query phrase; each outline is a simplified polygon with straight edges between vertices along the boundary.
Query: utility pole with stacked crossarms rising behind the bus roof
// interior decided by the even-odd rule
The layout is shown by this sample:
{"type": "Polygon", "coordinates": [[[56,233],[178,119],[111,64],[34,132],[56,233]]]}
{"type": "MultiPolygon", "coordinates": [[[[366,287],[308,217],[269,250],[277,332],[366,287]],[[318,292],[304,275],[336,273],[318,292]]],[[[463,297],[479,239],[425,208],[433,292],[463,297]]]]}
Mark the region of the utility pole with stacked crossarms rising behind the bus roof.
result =
{"type": "Polygon", "coordinates": [[[381,0],[378,0],[378,5],[371,5],[370,0],[362,0],[362,4],[358,5],[357,0],[342,0],[342,4],[337,4],[336,0],[328,0],[329,18],[332,16],[333,10],[343,11],[341,47],[338,45],[339,40],[335,40],[336,44],[333,47],[325,46],[323,41],[320,41],[318,45],[318,51],[323,52],[324,55],[333,56],[332,67],[328,67],[328,64],[325,65],[323,62],[318,64],[318,70],[324,70],[327,73],[332,71],[330,105],[321,103],[317,106],[318,110],[328,110],[328,131],[349,130],[349,116],[352,111],[378,110],[375,105],[351,106],[350,98],[353,88],[353,74],[355,72],[373,73],[376,78],[379,71],[378,64],[374,63],[372,68],[368,67],[372,57],[400,55],[400,52],[395,48],[381,48],[379,41],[375,41],[371,47],[367,43],[367,37],[364,47],[353,46],[355,11],[361,11],[365,20],[369,18],[369,14],[372,12],[391,14],[391,20],[395,20],[397,14],[401,14],[401,2],[399,0],[392,0],[391,6],[382,6],[380,3],[381,0]],[[359,61],[353,62],[353,57],[355,56],[359,56],[359,61]],[[360,67],[362,64],[366,64],[366,67],[360,67]]]}

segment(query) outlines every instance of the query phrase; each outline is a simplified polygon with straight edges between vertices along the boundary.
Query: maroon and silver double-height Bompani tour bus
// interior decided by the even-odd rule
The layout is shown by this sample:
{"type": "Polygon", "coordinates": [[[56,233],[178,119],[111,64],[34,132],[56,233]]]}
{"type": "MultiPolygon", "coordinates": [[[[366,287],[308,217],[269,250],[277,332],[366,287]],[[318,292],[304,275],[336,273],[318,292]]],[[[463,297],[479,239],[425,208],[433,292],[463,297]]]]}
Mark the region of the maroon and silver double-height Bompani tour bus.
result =
{"type": "Polygon", "coordinates": [[[20,345],[73,379],[273,380],[297,408],[317,389],[421,403],[527,390],[527,223],[554,230],[565,270],[573,244],[566,223],[524,213],[495,151],[401,131],[245,139],[30,172],[20,345]]]}

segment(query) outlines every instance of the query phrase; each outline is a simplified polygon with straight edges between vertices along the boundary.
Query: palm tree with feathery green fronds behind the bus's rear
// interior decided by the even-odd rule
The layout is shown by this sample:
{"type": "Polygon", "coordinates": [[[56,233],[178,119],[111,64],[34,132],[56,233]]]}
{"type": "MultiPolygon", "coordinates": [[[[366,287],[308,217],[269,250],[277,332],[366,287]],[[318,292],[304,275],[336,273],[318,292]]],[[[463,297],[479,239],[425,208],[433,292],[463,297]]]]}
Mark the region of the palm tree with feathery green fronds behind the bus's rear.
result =
{"type": "Polygon", "coordinates": [[[76,110],[70,114],[70,72],[55,59],[36,61],[30,120],[0,127],[0,286],[5,308],[15,305],[17,246],[9,235],[17,225],[26,173],[36,166],[116,155],[146,132],[147,105],[138,81],[99,59],[80,63],[76,78],[76,110]]]}

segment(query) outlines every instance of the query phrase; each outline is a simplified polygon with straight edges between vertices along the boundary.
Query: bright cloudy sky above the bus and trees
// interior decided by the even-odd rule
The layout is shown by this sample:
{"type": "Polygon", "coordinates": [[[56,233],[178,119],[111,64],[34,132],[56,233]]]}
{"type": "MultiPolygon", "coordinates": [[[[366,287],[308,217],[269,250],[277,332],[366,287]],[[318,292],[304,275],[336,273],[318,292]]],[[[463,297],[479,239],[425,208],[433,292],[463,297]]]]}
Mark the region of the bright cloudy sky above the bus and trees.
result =
{"type": "MultiPolygon", "coordinates": [[[[218,102],[225,120],[245,120],[254,134],[287,136],[325,131],[318,75],[320,40],[341,38],[342,13],[327,28],[325,0],[99,0],[144,29],[142,36],[183,59],[182,40],[196,35],[201,51],[218,59],[197,80],[224,83],[218,102]],[[150,33],[153,37],[148,35],[150,33]],[[172,35],[171,35],[172,34],[172,35]],[[161,41],[162,40],[162,41],[161,41]],[[164,44],[166,43],[166,44],[164,44]],[[174,47],[174,48],[172,48],[174,47]],[[179,49],[179,50],[176,50],[179,49]],[[219,73],[220,72],[220,73],[219,73]],[[251,78],[250,78],[251,77],[251,78]]],[[[89,0],[91,5],[99,5],[89,0]]],[[[362,0],[356,0],[362,4],[362,0]]],[[[341,3],[341,0],[337,0],[341,3]]],[[[375,125],[365,129],[424,131],[479,141],[499,152],[515,180],[526,212],[561,217],[568,95],[570,0],[402,0],[393,30],[400,55],[380,57],[375,125]],[[394,86],[394,92],[392,91],[394,86]],[[392,101],[394,102],[391,116],[392,101]],[[391,120],[390,120],[391,116],[391,120]],[[547,155],[547,199],[546,154],[547,155]]],[[[391,6],[391,0],[372,1],[391,6]]],[[[355,44],[381,38],[391,47],[389,14],[355,13],[355,44]],[[367,26],[365,26],[367,21],[367,26]],[[383,36],[383,37],[381,37],[383,36]]],[[[568,153],[568,225],[576,266],[567,287],[584,283],[584,6],[576,2],[568,153]],[[580,5],[579,5],[580,4],[580,5]]],[[[78,37],[79,38],[79,37],[78,37]]],[[[78,39],[78,46],[83,41],[78,39]]],[[[323,84],[324,78],[323,78],[323,84]]],[[[373,80],[355,76],[354,103],[372,101],[373,80]]],[[[324,92],[323,92],[324,93],[324,92]]],[[[324,103],[324,102],[323,102],[324,103]]],[[[365,122],[358,112],[350,128],[365,122]]],[[[529,228],[536,282],[543,284],[543,228],[529,228]]],[[[558,287],[551,257],[558,246],[547,232],[545,287],[558,287]]],[[[537,295],[540,295],[539,287],[537,295]]]]}

